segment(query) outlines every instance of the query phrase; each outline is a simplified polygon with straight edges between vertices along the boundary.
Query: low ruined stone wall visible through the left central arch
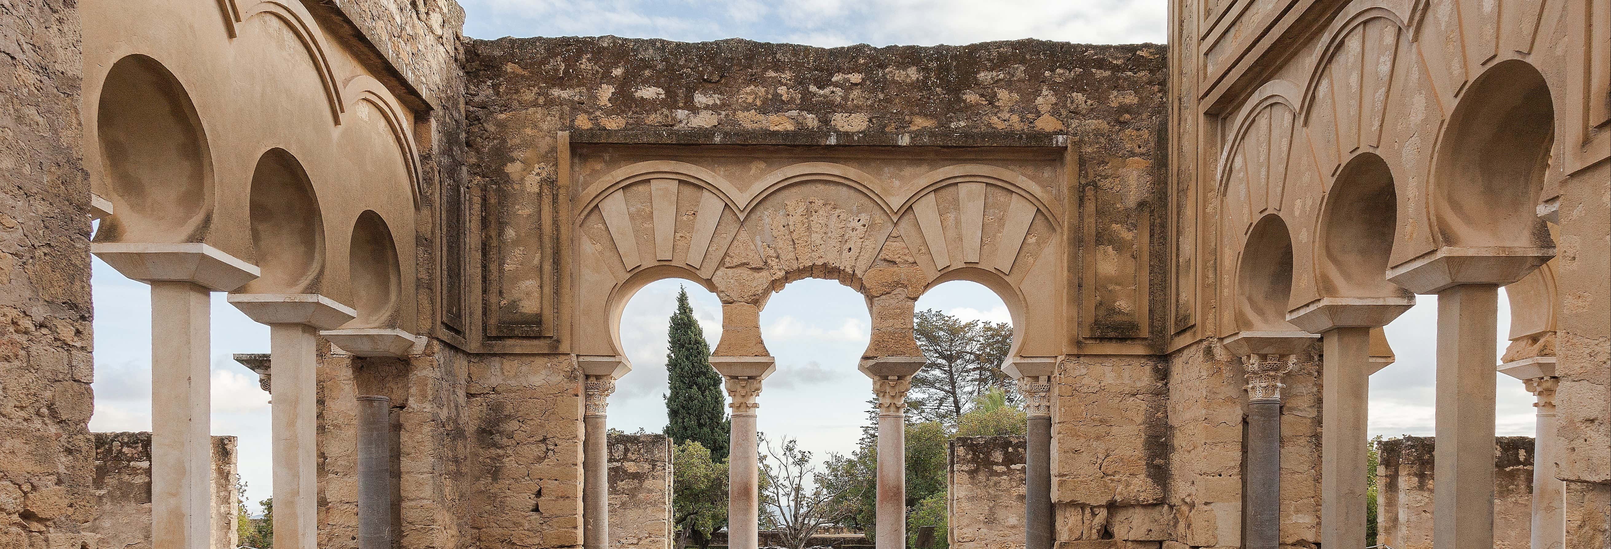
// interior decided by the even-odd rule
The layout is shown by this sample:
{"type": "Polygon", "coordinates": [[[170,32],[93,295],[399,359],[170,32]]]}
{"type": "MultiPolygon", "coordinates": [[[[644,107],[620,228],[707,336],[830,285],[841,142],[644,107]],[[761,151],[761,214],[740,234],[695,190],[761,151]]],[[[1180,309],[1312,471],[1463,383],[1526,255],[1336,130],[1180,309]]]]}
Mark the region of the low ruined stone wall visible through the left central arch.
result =
{"type": "Polygon", "coordinates": [[[672,549],[672,440],[609,436],[609,546],[672,549]]]}

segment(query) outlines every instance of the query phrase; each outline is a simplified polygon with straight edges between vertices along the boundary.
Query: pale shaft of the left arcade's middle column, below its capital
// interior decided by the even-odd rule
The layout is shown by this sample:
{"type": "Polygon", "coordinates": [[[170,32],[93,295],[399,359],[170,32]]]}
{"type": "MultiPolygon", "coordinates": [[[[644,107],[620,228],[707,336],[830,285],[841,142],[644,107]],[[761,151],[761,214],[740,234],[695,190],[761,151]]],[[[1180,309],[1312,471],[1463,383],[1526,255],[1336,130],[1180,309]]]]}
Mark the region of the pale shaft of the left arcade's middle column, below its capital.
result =
{"type": "Polygon", "coordinates": [[[311,325],[269,325],[275,549],[319,547],[317,343],[311,325]]]}

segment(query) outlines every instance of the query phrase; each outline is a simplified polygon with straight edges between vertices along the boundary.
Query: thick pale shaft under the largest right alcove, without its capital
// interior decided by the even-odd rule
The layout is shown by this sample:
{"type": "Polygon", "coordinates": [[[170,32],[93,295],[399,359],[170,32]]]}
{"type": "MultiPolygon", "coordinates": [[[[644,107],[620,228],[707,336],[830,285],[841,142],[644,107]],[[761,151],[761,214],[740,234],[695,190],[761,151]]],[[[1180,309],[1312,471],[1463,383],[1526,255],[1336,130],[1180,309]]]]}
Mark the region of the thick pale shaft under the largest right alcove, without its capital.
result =
{"type": "Polygon", "coordinates": [[[1493,546],[1493,398],[1498,287],[1437,295],[1432,547],[1493,546]]]}

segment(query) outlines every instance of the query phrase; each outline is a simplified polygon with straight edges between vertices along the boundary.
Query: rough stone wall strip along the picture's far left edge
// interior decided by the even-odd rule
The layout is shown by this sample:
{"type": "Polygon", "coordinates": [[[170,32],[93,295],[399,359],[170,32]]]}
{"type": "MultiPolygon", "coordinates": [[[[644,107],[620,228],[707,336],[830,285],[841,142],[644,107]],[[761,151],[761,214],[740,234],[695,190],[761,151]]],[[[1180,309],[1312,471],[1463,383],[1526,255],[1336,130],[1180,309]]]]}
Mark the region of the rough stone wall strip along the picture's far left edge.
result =
{"type": "Polygon", "coordinates": [[[8,2],[0,35],[0,546],[71,547],[95,518],[77,3],[8,2]]]}

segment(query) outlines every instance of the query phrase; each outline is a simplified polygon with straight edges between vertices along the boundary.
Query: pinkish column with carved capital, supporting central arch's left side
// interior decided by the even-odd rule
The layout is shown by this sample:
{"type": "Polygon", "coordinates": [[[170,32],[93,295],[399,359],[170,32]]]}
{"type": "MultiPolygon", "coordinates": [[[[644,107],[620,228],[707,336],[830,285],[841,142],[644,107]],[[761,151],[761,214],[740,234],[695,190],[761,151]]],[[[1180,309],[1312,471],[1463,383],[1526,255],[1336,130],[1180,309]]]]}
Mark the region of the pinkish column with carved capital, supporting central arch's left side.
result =
{"type": "Polygon", "coordinates": [[[731,431],[727,467],[727,544],[730,549],[760,546],[760,440],[756,435],[759,377],[728,377],[731,431]]]}

